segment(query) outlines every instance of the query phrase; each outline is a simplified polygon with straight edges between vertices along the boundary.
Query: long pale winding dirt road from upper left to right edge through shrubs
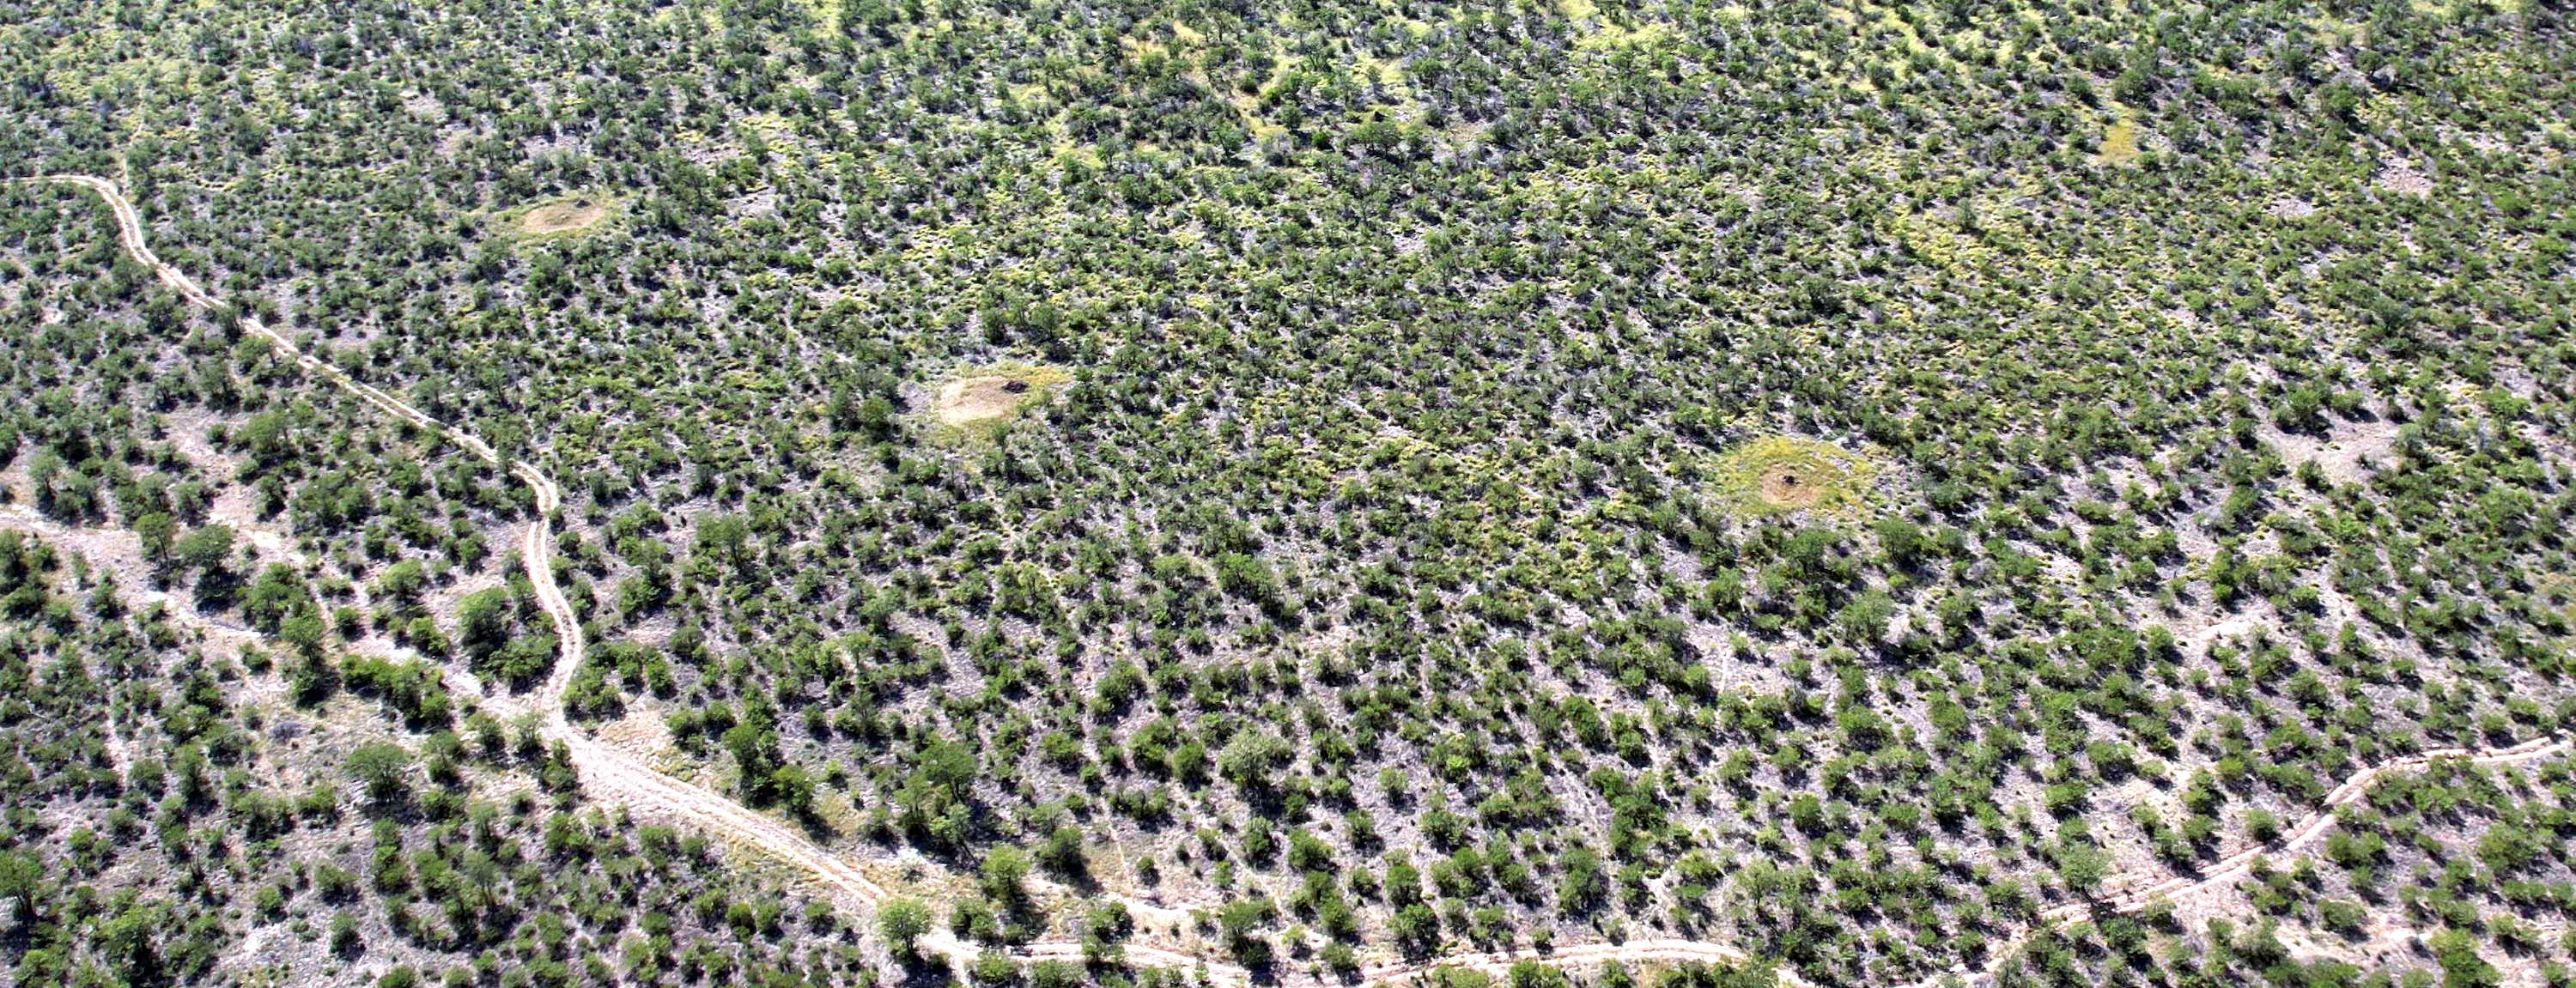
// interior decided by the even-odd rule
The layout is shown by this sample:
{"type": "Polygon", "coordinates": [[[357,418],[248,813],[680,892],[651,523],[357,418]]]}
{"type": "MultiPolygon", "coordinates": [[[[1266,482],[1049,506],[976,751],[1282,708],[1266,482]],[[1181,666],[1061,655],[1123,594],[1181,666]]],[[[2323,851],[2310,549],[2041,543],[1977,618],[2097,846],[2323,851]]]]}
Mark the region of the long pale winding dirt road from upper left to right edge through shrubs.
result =
{"type": "MultiPolygon", "coordinates": [[[[103,178],[90,178],[90,175],[36,175],[36,178],[18,178],[13,183],[80,185],[80,188],[88,188],[90,193],[98,193],[98,198],[106,201],[111,211],[116,211],[116,239],[124,242],[126,252],[137,262],[152,268],[152,273],[165,286],[170,286],[183,298],[188,298],[188,304],[204,306],[204,309],[219,309],[219,301],[211,293],[206,293],[206,288],[201,288],[185,273],[180,273],[178,268],[173,268],[173,265],[167,265],[167,262],[162,262],[160,257],[152,255],[152,250],[144,244],[142,214],[134,211],[134,203],[129,203],[124,198],[124,193],[116,190],[113,183],[108,183],[103,178]]],[[[582,633],[580,618],[572,610],[572,602],[564,599],[564,592],[562,592],[562,587],[554,579],[554,515],[556,515],[556,509],[562,509],[562,491],[554,486],[554,481],[544,471],[538,471],[533,463],[526,463],[526,461],[502,461],[502,455],[489,443],[484,443],[482,437],[477,437],[477,435],[471,435],[471,432],[466,432],[461,427],[438,422],[438,419],[428,417],[425,412],[404,404],[402,399],[397,399],[397,396],[392,396],[392,394],[386,394],[386,391],[381,391],[376,386],[368,386],[363,381],[350,378],[348,373],[343,373],[332,363],[319,360],[319,358],[304,352],[301,347],[294,345],[294,340],[286,340],[283,334],[278,334],[276,329],[270,329],[268,324],[263,324],[263,322],[258,322],[258,319],[252,319],[247,314],[242,316],[242,329],[247,329],[250,334],[258,334],[260,340],[268,340],[270,347],[276,347],[281,355],[291,358],[307,373],[314,373],[314,376],[330,381],[332,386],[337,386],[337,389],[343,389],[348,394],[355,394],[366,404],[371,404],[376,409],[384,409],[386,414],[392,414],[397,419],[404,419],[404,422],[410,422],[410,425],[415,425],[420,430],[435,432],[435,435],[446,437],[448,443],[456,443],[459,448],[464,448],[464,450],[484,458],[487,463],[502,466],[510,476],[515,476],[523,484],[528,484],[528,489],[536,494],[536,517],[528,520],[526,538],[520,540],[520,563],[526,566],[528,584],[536,589],[538,607],[546,612],[546,620],[554,623],[556,643],[559,643],[559,656],[556,656],[554,672],[546,677],[544,687],[538,687],[536,692],[531,692],[528,697],[523,697],[518,702],[507,702],[507,700],[502,700],[502,702],[505,705],[526,705],[528,710],[541,713],[541,731],[546,733],[549,741],[562,741],[564,749],[572,751],[572,764],[574,764],[574,769],[582,777],[582,787],[595,800],[616,800],[616,803],[626,803],[626,805],[631,805],[636,810],[644,810],[649,816],[677,818],[677,821],[690,823],[696,828],[703,828],[703,831],[708,831],[708,834],[714,834],[719,839],[726,839],[726,841],[732,841],[737,846],[750,846],[750,849],[757,849],[762,854],[770,854],[770,857],[775,857],[781,862],[788,862],[788,864],[804,870],[817,883],[822,883],[824,888],[835,890],[840,898],[853,901],[853,903],[858,903],[863,908],[873,908],[876,903],[886,901],[886,890],[881,885],[876,885],[873,880],[868,880],[858,867],[853,867],[842,857],[822,849],[819,844],[814,844],[804,834],[788,828],[786,823],[778,823],[778,821],[773,821],[765,813],[750,810],[742,803],[734,803],[734,800],[724,798],[721,792],[711,792],[711,790],[706,790],[701,785],[693,785],[693,782],[675,780],[670,774],[654,772],[641,759],[636,759],[636,756],[631,756],[631,754],[626,754],[626,751],[621,751],[616,746],[600,744],[600,741],[590,738],[587,733],[572,728],[572,723],[564,718],[564,702],[562,702],[562,697],[564,697],[564,690],[572,682],[574,666],[580,666],[580,661],[582,661],[585,633],[582,633]]],[[[471,677],[469,677],[466,684],[469,684],[471,692],[484,695],[482,684],[471,682],[471,677]]],[[[2347,805],[2347,803],[2362,798],[2362,792],[2367,792],[2370,785],[2378,782],[2385,774],[2421,769],[2421,767],[2432,764],[2434,759],[2468,759],[2470,764],[2524,764],[2524,762],[2553,759],[2553,756],[2561,756],[2566,751],[2568,751],[2568,738],[2548,738],[2548,736],[2543,736],[2543,738],[2532,738],[2532,741],[2522,741],[2522,744],[2501,746],[2501,749],[2434,749],[2434,751],[2421,751],[2421,754],[2411,754],[2411,756],[2401,756],[2401,759],[2391,759],[2391,762],[2360,769],[2349,780],[2344,780],[2342,785],[2336,785],[2326,795],[2324,805],[2316,813],[2311,813],[2308,818],[2303,818],[2298,826],[2287,828],[2280,839],[2275,839],[2269,844],[2259,844],[2259,846],[2249,846],[2249,849],[2241,849],[2236,854],[2228,854],[2228,857],[2213,862],[2197,877],[2174,875],[2174,877],[2164,877],[2164,880],[2151,883],[2151,885],[2141,885],[2141,888],[2130,888],[2130,890],[2123,890],[2123,893],[2112,893],[2107,898],[2053,906],[2053,908],[2043,911],[2040,921],[2032,924],[2030,929],[2025,929],[2025,931],[2020,931],[2014,937],[2007,937],[1999,944],[1994,944],[1994,949],[1989,955],[1991,962],[1986,965],[1986,970],[1958,967],[1958,970],[1950,970],[1945,975],[1927,978],[1919,985],[1922,988],[1937,985],[1942,978],[1965,978],[1965,980],[1991,978],[1994,970],[1999,965],[2004,965],[2032,934],[2038,934],[2040,929],[2050,929],[2056,924],[2063,924],[2063,921],[2074,921],[2074,919],[2081,919],[2081,916],[2089,916],[2089,913],[2136,913],[2136,911],[2141,911],[2141,908],[2146,908],[2146,906],[2151,906],[2156,901],[2184,898],[2184,895],[2195,895],[2195,893],[2226,888],[2226,885],[2246,877],[2246,872],[2251,870],[2254,859],[2259,859],[2259,857],[2267,857],[2267,854],[2298,854],[2298,852],[2313,846],[2316,841],[2321,841],[2326,836],[2326,831],[2334,828],[2334,808],[2347,805]]],[[[2115,885],[2117,885],[2117,880],[2115,880],[2115,885]]],[[[945,957],[948,962],[969,962],[969,960],[974,960],[979,955],[979,947],[966,944],[966,942],[951,937],[948,931],[935,931],[930,937],[922,937],[920,947],[927,949],[927,952],[933,952],[933,955],[938,955],[938,957],[945,957]]],[[[1018,957],[1018,960],[1082,960],[1082,947],[1072,944],[1072,942],[1038,942],[1038,944],[1023,944],[1023,947],[1012,949],[1010,957],[1018,957]]],[[[1128,944],[1126,947],[1126,960],[1136,962],[1136,965],[1146,965],[1146,967],[1198,970],[1198,973],[1203,973],[1203,978],[1208,983],[1216,983],[1216,985],[1249,985],[1252,983],[1252,975],[1244,967],[1239,967],[1239,965],[1229,965],[1229,962],[1213,960],[1213,957],[1182,955],[1182,952],[1172,952],[1172,949],[1128,944]]],[[[1507,973],[1512,965],[1528,962],[1528,960],[1535,960],[1535,962],[1543,962],[1543,965],[1561,965],[1561,967],[1587,967],[1587,965],[1602,965],[1602,962],[1613,962],[1613,960],[1615,962],[1625,962],[1625,965],[1636,965],[1636,962],[1744,965],[1744,962],[1749,962],[1754,957],[1747,955],[1744,949],[1736,949],[1736,947],[1728,947],[1728,944],[1716,944],[1716,942],[1698,942],[1698,939],[1631,939],[1631,942],[1620,942],[1620,944],[1607,944],[1607,942],[1564,944],[1564,947],[1556,947],[1548,955],[1533,955],[1533,952],[1461,952],[1461,955],[1445,955],[1445,957],[1432,957],[1432,960],[1422,960],[1422,962],[1378,962],[1378,965],[1370,965],[1370,967],[1365,967],[1360,973],[1360,983],[1363,985],[1386,985],[1386,983],[1396,983],[1396,980],[1404,980],[1404,978],[1422,975],[1422,973],[1435,970],[1435,967],[1463,967],[1463,970],[1479,970],[1479,973],[1499,975],[1499,973],[1507,973]]],[[[1811,988],[1811,983],[1806,978],[1798,978],[1790,970],[1780,970],[1777,980],[1783,985],[1788,985],[1788,988],[1811,988]]]]}

